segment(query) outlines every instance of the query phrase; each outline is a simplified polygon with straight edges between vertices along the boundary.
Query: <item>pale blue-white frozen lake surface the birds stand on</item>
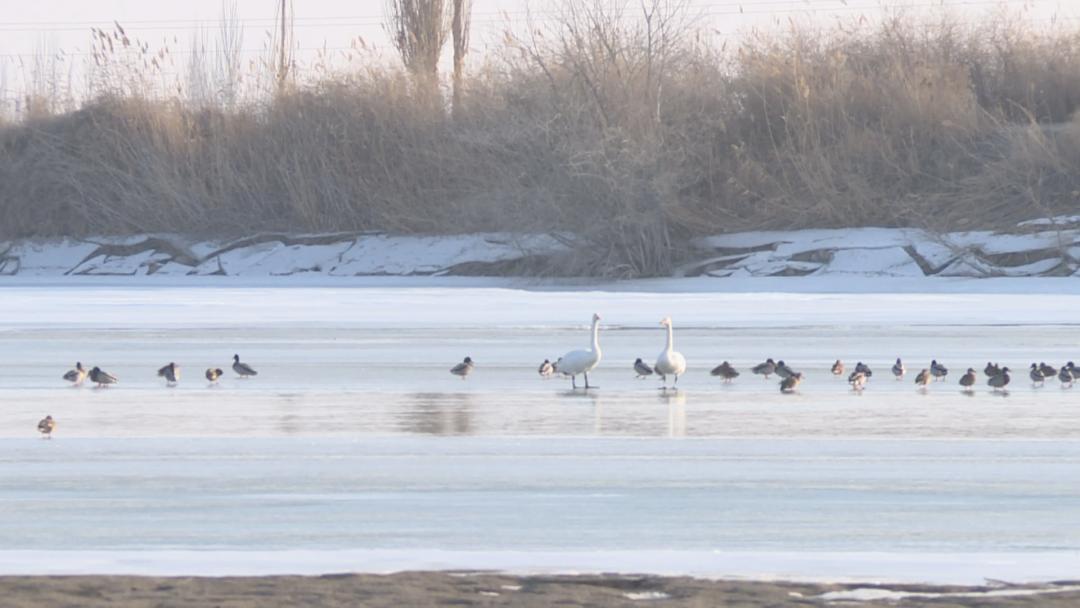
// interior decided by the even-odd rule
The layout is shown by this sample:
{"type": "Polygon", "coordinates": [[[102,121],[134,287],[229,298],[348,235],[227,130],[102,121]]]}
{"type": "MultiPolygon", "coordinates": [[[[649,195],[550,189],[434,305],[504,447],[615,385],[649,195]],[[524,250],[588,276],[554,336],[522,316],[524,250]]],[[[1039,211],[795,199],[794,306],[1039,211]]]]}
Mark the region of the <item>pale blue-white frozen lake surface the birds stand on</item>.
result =
{"type": "Polygon", "coordinates": [[[0,572],[1080,568],[1080,387],[1026,381],[1032,361],[1080,360],[1077,295],[0,289],[0,572]],[[600,388],[540,379],[593,311],[600,388]],[[678,391],[631,371],[665,314],[678,391]],[[260,375],[235,379],[234,352],[260,375]],[[798,394],[752,377],[766,356],[806,373],[798,394]],[[866,391],[828,374],[837,357],[875,369],[866,391]],[[917,391],[930,359],[949,379],[917,391]],[[65,386],[76,360],[121,383],[65,386]],[[708,376],[721,360],[731,386],[708,376]],[[980,374],[961,393],[989,360],[1012,390],[980,374]],[[154,376],[170,361],[175,388],[154,376]]]}

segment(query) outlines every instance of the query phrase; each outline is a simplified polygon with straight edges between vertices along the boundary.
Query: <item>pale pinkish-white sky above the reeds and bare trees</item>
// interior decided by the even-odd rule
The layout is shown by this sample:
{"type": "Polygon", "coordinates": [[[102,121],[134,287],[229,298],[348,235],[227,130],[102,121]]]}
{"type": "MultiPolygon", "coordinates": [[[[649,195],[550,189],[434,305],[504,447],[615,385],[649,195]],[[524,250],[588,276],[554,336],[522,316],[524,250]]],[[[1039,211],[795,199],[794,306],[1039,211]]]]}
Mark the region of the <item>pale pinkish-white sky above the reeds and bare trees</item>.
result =
{"type": "MultiPolygon", "coordinates": [[[[625,1],[630,4],[636,0],[625,1]]],[[[737,37],[753,28],[786,24],[788,19],[827,23],[835,19],[873,18],[882,6],[928,11],[942,5],[964,18],[1002,6],[1037,23],[1057,18],[1080,25],[1080,1],[1069,0],[687,0],[702,15],[706,30],[717,37],[737,37]]],[[[244,25],[245,56],[265,52],[267,32],[273,27],[280,0],[235,0],[244,25]]],[[[316,50],[343,55],[356,37],[374,43],[393,57],[382,29],[383,0],[292,0],[297,60],[309,64],[316,50]]],[[[472,51],[483,53],[498,44],[499,33],[521,27],[527,14],[551,18],[559,0],[474,0],[472,51]]],[[[63,51],[69,65],[86,57],[91,27],[111,28],[118,21],[133,38],[152,49],[167,44],[174,62],[190,53],[193,32],[207,29],[213,43],[222,0],[6,0],[0,12],[0,97],[11,98],[32,69],[39,50],[63,51]]],[[[177,67],[177,71],[183,68],[177,67]]]]}

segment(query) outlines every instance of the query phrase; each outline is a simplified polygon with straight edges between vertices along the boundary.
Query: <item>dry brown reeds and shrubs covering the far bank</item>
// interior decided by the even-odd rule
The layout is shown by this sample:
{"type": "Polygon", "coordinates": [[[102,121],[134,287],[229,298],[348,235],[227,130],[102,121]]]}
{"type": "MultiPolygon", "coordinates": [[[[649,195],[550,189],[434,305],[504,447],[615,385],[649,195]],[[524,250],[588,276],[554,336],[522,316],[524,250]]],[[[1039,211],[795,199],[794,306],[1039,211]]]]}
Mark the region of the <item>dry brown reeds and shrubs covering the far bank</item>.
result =
{"type": "Polygon", "coordinates": [[[558,272],[629,276],[698,234],[1080,206],[1080,29],[897,16],[717,48],[670,1],[609,5],[508,36],[453,114],[378,66],[235,105],[127,78],[28,113],[0,125],[0,237],[553,231],[558,272]]]}

